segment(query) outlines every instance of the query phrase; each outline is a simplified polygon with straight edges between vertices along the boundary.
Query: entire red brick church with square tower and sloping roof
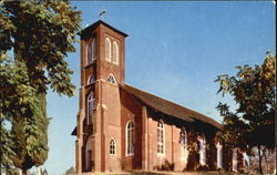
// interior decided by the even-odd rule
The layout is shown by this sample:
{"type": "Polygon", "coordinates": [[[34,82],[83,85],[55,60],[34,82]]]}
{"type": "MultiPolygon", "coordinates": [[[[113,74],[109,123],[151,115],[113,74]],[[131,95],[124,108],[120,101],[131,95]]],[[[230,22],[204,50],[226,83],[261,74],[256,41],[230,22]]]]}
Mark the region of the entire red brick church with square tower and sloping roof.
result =
{"type": "Polygon", "coordinates": [[[80,35],[80,103],[72,132],[78,174],[237,169],[240,154],[232,150],[223,156],[224,145],[215,140],[220,124],[125,84],[127,34],[100,20],[80,35]]]}

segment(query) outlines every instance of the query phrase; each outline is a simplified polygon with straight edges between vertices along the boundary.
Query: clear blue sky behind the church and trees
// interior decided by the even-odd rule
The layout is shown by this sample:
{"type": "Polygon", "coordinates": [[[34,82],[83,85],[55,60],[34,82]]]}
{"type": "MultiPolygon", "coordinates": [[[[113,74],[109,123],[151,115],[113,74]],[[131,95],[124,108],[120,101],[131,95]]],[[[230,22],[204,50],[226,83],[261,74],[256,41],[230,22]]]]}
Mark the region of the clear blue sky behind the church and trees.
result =
{"type": "MultiPolygon", "coordinates": [[[[82,27],[104,21],[129,34],[125,42],[125,83],[220,121],[215,106],[229,97],[217,95],[219,74],[235,74],[236,65],[261,64],[266,51],[276,53],[275,4],[258,2],[100,2],[72,1],[82,11],[82,27]]],[[[76,94],[80,87],[80,47],[69,54],[76,94]]],[[[48,93],[51,175],[74,166],[79,97],[48,93]]]]}

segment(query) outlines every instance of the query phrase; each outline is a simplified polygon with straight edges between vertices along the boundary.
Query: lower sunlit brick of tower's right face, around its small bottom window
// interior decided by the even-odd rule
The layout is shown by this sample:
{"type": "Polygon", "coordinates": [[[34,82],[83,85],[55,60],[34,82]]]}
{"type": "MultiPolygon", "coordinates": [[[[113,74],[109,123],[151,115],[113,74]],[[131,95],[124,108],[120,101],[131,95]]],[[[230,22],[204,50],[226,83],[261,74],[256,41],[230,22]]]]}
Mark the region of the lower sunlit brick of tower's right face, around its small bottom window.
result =
{"type": "MultiPolygon", "coordinates": [[[[107,172],[121,171],[121,117],[120,117],[120,92],[119,86],[109,82],[102,82],[102,141],[104,157],[102,166],[107,172]],[[110,142],[115,141],[115,155],[110,154],[110,142]]],[[[99,153],[96,153],[99,154],[99,153]]]]}

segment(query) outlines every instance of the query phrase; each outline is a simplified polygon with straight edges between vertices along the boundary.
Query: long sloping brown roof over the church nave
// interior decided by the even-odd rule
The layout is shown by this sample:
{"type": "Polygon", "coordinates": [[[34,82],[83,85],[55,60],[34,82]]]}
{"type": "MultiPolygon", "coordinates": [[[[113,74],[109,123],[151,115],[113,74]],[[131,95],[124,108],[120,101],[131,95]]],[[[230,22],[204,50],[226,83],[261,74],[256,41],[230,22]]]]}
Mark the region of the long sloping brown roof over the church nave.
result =
{"type": "Polygon", "coordinates": [[[162,97],[155,96],[153,94],[150,94],[147,92],[144,92],[142,90],[138,90],[127,84],[120,84],[120,87],[126,91],[127,93],[133,94],[135,97],[141,100],[143,103],[145,103],[150,107],[156,111],[160,111],[164,114],[171,115],[173,117],[177,117],[188,123],[201,121],[203,123],[213,125],[214,127],[218,130],[222,128],[222,125],[217,123],[215,120],[206,115],[203,115],[198,112],[195,112],[193,110],[189,110],[187,107],[173,103],[171,101],[164,100],[162,97]]]}

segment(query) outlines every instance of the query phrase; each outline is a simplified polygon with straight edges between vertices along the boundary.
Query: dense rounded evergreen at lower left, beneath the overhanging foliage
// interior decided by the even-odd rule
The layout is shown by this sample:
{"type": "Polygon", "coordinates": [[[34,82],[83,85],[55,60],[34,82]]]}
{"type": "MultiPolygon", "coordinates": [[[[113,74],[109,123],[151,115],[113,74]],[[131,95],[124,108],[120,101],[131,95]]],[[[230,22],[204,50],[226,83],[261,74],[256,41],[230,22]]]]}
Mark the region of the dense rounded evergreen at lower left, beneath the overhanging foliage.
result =
{"type": "MultiPolygon", "coordinates": [[[[41,100],[38,103],[43,102],[41,100]]],[[[42,104],[39,104],[41,109],[42,104]]],[[[16,153],[12,156],[13,165],[25,172],[33,165],[40,166],[48,158],[48,131],[49,119],[45,115],[16,117],[12,121],[11,134],[13,135],[16,153]],[[24,133],[24,134],[22,134],[24,133]]]]}

